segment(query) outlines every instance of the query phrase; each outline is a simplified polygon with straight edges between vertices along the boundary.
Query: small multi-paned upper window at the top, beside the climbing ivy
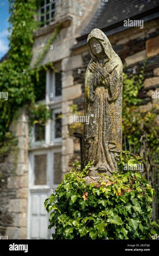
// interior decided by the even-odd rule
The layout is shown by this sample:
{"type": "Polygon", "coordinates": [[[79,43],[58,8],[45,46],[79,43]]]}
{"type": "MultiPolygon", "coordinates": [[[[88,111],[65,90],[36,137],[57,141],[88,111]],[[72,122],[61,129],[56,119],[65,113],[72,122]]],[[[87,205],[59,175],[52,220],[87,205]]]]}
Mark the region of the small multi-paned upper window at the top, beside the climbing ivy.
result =
{"type": "Polygon", "coordinates": [[[39,8],[39,21],[41,22],[41,27],[50,24],[54,20],[54,14],[56,9],[55,0],[44,0],[41,2],[39,8]]]}

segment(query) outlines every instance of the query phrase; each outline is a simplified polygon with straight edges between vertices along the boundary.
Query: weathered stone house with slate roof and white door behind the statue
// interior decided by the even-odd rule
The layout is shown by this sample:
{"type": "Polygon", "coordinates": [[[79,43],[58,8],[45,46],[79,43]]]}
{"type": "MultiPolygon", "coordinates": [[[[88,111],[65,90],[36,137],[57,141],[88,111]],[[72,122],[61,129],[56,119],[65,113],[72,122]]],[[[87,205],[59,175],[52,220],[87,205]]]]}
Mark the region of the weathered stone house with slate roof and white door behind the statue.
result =
{"type": "Polygon", "coordinates": [[[43,25],[35,32],[31,66],[54,28],[62,24],[53,49],[48,49],[40,63],[53,62],[60,71],[54,73],[50,69],[41,74],[43,97],[39,102],[45,102],[50,108],[52,120],[42,130],[42,139],[36,125],[29,133],[25,109],[10,127],[18,138],[19,151],[0,162],[1,235],[8,235],[9,239],[51,237],[44,201],[72,168],[72,163],[80,160],[80,143],[68,132],[69,113],[73,104],[81,113],[84,109],[84,79],[90,61],[87,36],[92,29],[105,32],[127,74],[133,74],[133,69],[140,70],[149,57],[140,111],[151,111],[156,104],[157,99],[152,99],[151,95],[159,87],[157,6],[155,0],[42,1],[37,16],[43,25]],[[139,22],[131,26],[131,20],[139,22]],[[59,119],[61,113],[63,117],[59,119]]]}

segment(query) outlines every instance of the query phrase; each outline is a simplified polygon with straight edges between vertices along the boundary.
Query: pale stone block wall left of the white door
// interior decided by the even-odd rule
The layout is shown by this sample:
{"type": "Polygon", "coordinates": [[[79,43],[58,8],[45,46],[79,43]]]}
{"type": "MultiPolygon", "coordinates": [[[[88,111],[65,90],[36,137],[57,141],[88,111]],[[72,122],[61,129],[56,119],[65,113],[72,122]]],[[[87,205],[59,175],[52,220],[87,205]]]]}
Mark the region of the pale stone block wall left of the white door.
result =
{"type": "Polygon", "coordinates": [[[25,109],[10,130],[18,139],[18,148],[0,159],[0,235],[26,239],[29,130],[25,109]]]}

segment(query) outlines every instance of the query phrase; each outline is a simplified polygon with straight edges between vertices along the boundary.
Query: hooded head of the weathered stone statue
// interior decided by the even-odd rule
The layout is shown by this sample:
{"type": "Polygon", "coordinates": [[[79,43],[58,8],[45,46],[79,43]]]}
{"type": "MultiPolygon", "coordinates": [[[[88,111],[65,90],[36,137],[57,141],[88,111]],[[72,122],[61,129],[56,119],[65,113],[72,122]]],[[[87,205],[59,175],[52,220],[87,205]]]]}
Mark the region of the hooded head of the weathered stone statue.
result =
{"type": "Polygon", "coordinates": [[[115,55],[107,36],[98,28],[93,29],[88,35],[87,43],[90,49],[90,55],[94,60],[97,60],[97,55],[102,52],[107,59],[115,55]]]}

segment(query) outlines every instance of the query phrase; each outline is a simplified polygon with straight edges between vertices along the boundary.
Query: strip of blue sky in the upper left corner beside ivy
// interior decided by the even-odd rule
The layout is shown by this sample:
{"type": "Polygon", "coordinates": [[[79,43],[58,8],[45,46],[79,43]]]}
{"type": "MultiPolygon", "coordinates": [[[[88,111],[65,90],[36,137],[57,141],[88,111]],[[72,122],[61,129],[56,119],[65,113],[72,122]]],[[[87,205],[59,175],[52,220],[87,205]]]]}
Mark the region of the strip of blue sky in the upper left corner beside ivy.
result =
{"type": "Polygon", "coordinates": [[[9,3],[7,0],[0,0],[0,59],[7,53],[9,40],[7,39],[9,23],[9,3]]]}

